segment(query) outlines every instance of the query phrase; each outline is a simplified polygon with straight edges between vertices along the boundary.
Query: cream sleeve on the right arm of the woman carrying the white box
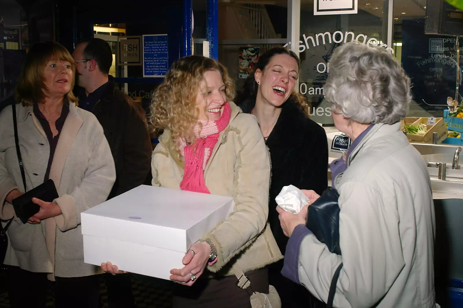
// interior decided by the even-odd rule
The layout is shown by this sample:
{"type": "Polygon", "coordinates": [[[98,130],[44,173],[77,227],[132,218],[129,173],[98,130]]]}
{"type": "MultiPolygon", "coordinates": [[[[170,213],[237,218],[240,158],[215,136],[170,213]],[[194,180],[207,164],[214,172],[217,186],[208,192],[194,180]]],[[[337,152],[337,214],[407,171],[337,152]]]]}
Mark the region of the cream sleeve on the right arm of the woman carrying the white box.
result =
{"type": "Polygon", "coordinates": [[[256,121],[238,134],[235,169],[234,211],[203,239],[217,249],[217,262],[209,266],[216,272],[233,256],[249,246],[265,228],[269,215],[270,158],[256,121]]]}

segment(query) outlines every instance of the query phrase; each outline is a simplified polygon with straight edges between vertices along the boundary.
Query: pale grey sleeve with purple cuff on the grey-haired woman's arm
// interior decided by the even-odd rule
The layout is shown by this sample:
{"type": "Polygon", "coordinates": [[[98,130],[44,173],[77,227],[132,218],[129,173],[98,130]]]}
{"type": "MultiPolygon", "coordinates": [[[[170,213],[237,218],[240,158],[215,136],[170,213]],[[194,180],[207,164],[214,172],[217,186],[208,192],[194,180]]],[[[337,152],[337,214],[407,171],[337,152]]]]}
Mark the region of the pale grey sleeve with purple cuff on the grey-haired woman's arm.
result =
{"type": "Polygon", "coordinates": [[[331,253],[299,225],[289,239],[282,272],[326,302],[334,272],[343,262],[334,306],[372,307],[405,265],[398,215],[394,206],[386,206],[380,193],[365,183],[344,183],[339,193],[342,256],[331,253]]]}

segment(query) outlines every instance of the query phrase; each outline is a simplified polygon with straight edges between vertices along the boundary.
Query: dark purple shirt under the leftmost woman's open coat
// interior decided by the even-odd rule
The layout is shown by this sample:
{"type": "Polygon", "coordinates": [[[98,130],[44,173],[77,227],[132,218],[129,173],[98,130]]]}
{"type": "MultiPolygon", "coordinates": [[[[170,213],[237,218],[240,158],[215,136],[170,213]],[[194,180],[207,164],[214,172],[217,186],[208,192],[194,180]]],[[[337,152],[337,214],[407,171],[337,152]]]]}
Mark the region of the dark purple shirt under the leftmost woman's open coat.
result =
{"type": "Polygon", "coordinates": [[[45,134],[47,135],[48,144],[50,145],[50,157],[48,158],[48,166],[47,171],[45,172],[44,181],[47,181],[50,177],[50,168],[51,163],[53,162],[53,157],[55,156],[56,145],[58,144],[59,135],[61,134],[61,130],[63,129],[64,121],[69,114],[69,103],[63,104],[63,109],[61,109],[61,115],[55,122],[55,127],[58,133],[55,137],[53,137],[53,133],[51,133],[51,128],[48,120],[42,114],[42,112],[38,109],[38,105],[33,105],[34,115],[37,117],[40,125],[44,129],[45,134]]]}

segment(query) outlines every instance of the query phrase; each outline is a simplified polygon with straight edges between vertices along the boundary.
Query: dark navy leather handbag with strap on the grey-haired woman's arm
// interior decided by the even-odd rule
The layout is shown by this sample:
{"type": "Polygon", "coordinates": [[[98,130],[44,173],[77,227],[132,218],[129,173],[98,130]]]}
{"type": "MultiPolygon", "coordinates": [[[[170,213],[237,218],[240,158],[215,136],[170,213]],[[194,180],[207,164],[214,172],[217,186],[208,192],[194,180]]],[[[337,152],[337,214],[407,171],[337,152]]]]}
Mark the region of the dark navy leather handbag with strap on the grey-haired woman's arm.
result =
{"type": "MultiPolygon", "coordinates": [[[[313,232],[317,239],[324,243],[330,252],[341,254],[339,245],[339,193],[336,189],[328,187],[319,199],[309,206],[307,214],[307,228],[313,232]]],[[[328,293],[326,307],[333,307],[336,284],[343,264],[341,263],[333,275],[328,293]]]]}

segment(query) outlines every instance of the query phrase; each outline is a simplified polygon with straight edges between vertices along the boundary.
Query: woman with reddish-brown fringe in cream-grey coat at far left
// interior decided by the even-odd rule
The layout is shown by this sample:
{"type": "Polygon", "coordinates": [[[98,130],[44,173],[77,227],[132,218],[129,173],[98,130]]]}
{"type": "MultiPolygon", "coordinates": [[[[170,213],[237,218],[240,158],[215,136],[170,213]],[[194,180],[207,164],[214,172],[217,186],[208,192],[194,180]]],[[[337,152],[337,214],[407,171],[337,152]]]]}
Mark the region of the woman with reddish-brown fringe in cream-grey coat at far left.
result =
{"type": "Polygon", "coordinates": [[[34,45],[18,81],[16,100],[0,114],[0,218],[13,218],[6,285],[11,307],[45,307],[47,275],[55,283],[55,307],[97,308],[99,267],[85,264],[81,212],[104,202],[115,181],[113,156],[93,114],[72,95],[75,62],[58,43],[34,45]],[[13,108],[24,162],[19,169],[13,108]],[[53,202],[33,198],[40,211],[22,223],[12,200],[52,179],[53,202]]]}

